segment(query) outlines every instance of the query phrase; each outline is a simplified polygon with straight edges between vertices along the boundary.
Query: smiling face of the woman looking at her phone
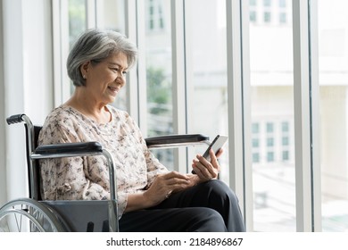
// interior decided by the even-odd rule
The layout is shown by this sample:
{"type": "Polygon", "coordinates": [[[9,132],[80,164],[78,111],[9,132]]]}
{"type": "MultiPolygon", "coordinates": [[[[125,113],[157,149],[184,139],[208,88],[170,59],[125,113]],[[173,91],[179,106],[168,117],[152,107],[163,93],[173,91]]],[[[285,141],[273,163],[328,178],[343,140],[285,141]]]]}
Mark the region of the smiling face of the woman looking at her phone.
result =
{"type": "MultiPolygon", "coordinates": [[[[82,74],[86,77],[87,97],[96,104],[110,104],[115,101],[120,88],[126,83],[128,60],[126,54],[112,54],[103,62],[84,63],[82,74]]],[[[90,101],[92,101],[90,100],[90,101]]]]}

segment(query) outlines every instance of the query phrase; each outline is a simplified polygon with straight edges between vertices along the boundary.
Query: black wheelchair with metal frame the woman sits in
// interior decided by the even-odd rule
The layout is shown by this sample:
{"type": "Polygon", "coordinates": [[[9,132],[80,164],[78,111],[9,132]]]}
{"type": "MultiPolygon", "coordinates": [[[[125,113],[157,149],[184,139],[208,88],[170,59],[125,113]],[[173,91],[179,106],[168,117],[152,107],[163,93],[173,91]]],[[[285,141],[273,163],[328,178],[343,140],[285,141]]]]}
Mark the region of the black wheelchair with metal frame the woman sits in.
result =
{"type": "MultiPolygon", "coordinates": [[[[9,201],[0,208],[0,232],[117,232],[117,184],[112,155],[98,142],[37,146],[41,126],[34,126],[26,114],[6,119],[9,125],[24,122],[29,178],[29,197],[9,201]],[[42,200],[39,159],[104,155],[109,166],[110,200],[42,200]]],[[[209,145],[201,134],[145,138],[148,148],[209,145]]]]}

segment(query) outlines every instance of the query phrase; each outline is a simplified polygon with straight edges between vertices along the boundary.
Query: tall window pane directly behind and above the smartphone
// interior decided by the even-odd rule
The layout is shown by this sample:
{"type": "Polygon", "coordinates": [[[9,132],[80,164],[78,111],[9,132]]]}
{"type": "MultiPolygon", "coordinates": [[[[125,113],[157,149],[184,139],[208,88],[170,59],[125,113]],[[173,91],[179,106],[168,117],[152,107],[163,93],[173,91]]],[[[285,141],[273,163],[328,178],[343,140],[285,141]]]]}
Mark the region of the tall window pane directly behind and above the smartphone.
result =
{"type": "MultiPolygon", "coordinates": [[[[188,97],[189,129],[211,139],[228,135],[226,1],[186,0],[185,11],[190,66],[186,78],[192,93],[188,97]],[[197,6],[204,7],[197,11],[197,6]]],[[[196,148],[200,154],[203,150],[196,148]]],[[[221,179],[228,181],[228,150],[220,160],[221,179]]]]}

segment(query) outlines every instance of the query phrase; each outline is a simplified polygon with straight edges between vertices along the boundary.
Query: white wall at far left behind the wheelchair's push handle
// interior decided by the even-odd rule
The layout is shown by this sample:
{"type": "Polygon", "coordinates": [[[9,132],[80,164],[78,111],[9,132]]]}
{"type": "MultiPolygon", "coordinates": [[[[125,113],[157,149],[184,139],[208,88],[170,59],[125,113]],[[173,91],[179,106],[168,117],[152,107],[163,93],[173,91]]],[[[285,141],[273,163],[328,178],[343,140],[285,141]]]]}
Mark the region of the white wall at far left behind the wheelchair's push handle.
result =
{"type": "Polygon", "coordinates": [[[0,53],[3,51],[4,61],[0,62],[3,66],[0,72],[4,71],[4,78],[0,78],[0,98],[4,104],[0,106],[0,205],[28,196],[24,127],[7,126],[4,118],[26,113],[34,124],[41,124],[53,108],[51,12],[51,1],[47,0],[2,1],[0,53]]]}

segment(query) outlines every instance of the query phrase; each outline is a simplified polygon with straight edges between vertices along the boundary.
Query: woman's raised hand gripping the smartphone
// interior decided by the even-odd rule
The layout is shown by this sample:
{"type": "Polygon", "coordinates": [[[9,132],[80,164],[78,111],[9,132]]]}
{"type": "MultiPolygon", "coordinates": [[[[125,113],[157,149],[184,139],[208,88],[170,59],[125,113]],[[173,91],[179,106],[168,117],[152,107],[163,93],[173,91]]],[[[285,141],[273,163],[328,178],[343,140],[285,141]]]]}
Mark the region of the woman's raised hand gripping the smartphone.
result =
{"type": "Polygon", "coordinates": [[[217,179],[220,172],[220,164],[218,158],[223,153],[220,149],[215,155],[212,149],[209,151],[211,156],[211,162],[207,161],[201,154],[197,154],[197,158],[192,162],[192,168],[195,174],[201,181],[208,181],[211,179],[217,179]]]}

